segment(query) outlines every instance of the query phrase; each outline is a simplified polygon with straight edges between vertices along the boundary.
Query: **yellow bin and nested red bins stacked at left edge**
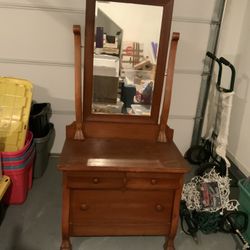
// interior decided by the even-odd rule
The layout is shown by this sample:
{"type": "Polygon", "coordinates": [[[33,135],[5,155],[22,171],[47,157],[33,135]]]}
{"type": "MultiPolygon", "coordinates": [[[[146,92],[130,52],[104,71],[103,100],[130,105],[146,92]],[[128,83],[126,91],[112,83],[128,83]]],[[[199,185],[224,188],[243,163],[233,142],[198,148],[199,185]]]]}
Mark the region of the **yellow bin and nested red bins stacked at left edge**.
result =
{"type": "Polygon", "coordinates": [[[29,81],[0,77],[1,171],[11,180],[3,197],[7,204],[23,203],[32,186],[35,148],[33,135],[28,132],[31,100],[29,81]]]}

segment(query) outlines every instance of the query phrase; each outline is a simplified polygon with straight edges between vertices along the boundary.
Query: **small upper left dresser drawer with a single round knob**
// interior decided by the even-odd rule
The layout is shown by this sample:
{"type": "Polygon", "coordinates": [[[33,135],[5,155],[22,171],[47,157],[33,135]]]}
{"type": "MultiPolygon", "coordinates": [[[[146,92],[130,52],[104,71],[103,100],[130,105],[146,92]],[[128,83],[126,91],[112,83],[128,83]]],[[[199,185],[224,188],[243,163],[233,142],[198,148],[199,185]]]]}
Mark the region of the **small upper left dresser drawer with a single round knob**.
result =
{"type": "Polygon", "coordinates": [[[125,182],[123,173],[74,172],[67,176],[67,186],[77,189],[119,189],[124,187],[125,182]]]}

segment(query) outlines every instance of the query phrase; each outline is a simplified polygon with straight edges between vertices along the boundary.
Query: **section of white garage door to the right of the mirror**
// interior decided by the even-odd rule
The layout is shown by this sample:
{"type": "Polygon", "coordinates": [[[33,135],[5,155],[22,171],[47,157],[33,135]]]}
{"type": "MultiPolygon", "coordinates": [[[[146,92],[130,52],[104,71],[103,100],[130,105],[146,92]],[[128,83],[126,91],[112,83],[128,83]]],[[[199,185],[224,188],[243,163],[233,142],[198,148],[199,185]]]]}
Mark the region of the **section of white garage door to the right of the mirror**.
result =
{"type": "Polygon", "coordinates": [[[172,31],[180,32],[169,125],[182,153],[190,147],[215,1],[175,1],[172,31]]]}

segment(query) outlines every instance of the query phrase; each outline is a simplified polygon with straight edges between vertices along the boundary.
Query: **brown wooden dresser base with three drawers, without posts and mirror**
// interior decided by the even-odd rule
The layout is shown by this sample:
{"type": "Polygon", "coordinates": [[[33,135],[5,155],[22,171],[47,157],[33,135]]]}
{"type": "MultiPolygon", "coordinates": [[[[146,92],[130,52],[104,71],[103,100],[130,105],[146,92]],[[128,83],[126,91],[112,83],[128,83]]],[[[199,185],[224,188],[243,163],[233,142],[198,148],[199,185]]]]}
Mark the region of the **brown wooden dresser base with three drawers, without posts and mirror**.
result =
{"type": "Polygon", "coordinates": [[[164,235],[178,226],[183,176],[188,171],[174,143],[86,139],[65,142],[63,237],[164,235]]]}

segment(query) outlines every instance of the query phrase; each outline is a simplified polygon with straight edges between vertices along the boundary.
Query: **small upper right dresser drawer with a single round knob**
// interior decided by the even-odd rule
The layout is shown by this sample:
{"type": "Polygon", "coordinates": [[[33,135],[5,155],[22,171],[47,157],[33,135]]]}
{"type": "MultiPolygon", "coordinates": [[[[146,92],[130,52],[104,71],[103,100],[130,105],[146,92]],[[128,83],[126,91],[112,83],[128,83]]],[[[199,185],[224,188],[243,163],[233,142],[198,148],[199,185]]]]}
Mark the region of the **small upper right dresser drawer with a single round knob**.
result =
{"type": "Polygon", "coordinates": [[[181,176],[178,174],[127,173],[126,188],[128,189],[177,189],[180,187],[181,176]]]}

